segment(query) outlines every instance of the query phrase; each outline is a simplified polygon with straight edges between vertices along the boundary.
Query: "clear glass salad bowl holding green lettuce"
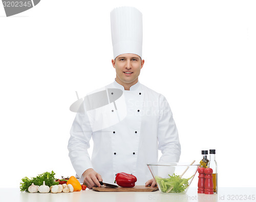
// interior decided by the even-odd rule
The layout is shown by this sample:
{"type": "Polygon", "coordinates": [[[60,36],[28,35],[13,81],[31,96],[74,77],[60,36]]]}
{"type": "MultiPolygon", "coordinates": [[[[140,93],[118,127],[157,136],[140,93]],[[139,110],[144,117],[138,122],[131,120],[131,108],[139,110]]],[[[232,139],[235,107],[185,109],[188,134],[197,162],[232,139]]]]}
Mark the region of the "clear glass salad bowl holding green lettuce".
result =
{"type": "Polygon", "coordinates": [[[162,193],[186,193],[199,166],[184,163],[147,164],[162,193]]]}

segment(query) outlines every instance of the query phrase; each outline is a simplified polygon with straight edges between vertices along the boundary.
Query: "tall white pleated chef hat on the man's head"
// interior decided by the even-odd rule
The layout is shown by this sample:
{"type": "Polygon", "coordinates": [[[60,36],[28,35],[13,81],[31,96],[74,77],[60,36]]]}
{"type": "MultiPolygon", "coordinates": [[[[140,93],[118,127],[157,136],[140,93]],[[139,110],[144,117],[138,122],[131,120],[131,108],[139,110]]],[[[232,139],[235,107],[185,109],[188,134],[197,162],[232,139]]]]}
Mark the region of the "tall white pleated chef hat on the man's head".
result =
{"type": "Polygon", "coordinates": [[[114,58],[132,53],[142,58],[142,13],[134,7],[115,8],[110,13],[114,58]]]}

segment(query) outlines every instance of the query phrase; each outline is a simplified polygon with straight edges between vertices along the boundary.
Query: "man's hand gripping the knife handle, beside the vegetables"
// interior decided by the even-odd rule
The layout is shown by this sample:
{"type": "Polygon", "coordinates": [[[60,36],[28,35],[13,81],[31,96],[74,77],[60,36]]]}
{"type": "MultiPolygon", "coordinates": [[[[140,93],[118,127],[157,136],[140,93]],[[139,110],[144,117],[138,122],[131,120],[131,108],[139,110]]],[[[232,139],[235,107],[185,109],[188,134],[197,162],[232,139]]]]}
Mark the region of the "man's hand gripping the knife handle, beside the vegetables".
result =
{"type": "Polygon", "coordinates": [[[89,189],[93,187],[100,187],[99,181],[102,181],[102,178],[99,173],[95,172],[94,169],[89,168],[82,173],[83,182],[87,185],[89,189]]]}

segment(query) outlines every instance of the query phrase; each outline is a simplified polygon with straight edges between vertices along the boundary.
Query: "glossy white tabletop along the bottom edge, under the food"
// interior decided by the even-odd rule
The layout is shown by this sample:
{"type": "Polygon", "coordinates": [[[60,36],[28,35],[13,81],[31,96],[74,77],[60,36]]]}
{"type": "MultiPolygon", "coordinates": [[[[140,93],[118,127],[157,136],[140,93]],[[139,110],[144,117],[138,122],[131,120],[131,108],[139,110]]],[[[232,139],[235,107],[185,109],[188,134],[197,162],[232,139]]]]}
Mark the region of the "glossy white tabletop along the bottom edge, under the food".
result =
{"type": "Polygon", "coordinates": [[[143,201],[256,201],[256,188],[219,188],[213,195],[198,194],[196,187],[190,187],[186,194],[164,194],[155,192],[96,192],[84,190],[72,193],[27,193],[19,188],[1,188],[0,202],[143,202],[143,201]]]}

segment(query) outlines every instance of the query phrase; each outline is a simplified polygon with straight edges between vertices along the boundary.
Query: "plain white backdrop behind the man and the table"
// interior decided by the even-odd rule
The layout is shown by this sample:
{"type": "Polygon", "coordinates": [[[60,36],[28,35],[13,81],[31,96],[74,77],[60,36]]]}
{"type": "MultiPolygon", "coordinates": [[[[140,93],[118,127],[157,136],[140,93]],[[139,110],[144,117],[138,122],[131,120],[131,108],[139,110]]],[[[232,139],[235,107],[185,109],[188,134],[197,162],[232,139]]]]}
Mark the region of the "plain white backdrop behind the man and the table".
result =
{"type": "Polygon", "coordinates": [[[42,0],[12,17],[0,4],[0,187],[51,170],[75,175],[69,106],[75,91],[114,80],[110,12],[119,6],[143,13],[139,80],[167,98],[180,162],[216,149],[219,187],[255,187],[256,3],[234,0],[42,0]]]}

